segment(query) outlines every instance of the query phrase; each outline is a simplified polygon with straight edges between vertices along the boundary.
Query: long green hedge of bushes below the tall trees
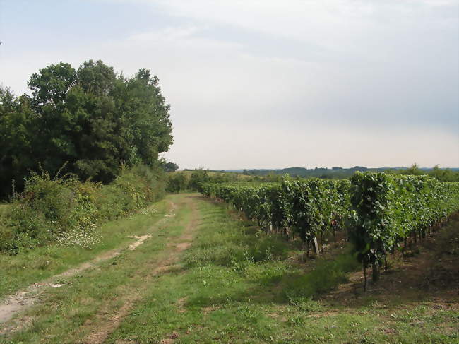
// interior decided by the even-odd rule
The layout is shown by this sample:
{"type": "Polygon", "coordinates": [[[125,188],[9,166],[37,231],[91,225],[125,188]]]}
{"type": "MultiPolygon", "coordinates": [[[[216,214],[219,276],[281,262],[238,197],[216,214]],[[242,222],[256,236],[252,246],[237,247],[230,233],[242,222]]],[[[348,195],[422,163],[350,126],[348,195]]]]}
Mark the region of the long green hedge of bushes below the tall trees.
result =
{"type": "Polygon", "coordinates": [[[135,213],[161,198],[163,173],[136,165],[123,168],[114,182],[102,186],[32,172],[23,193],[15,195],[8,214],[0,218],[0,251],[16,254],[50,241],[68,242],[68,233],[92,243],[90,237],[100,223],[135,213]]]}

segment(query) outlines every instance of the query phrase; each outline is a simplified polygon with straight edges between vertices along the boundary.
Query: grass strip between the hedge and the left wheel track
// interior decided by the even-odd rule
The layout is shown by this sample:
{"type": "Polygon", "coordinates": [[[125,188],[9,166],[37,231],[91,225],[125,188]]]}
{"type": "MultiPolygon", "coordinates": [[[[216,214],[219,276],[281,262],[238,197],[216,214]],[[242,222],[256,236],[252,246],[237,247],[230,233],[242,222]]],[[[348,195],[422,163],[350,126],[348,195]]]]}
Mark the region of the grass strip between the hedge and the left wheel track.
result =
{"type": "Polygon", "coordinates": [[[160,201],[155,203],[154,208],[156,211],[153,215],[139,213],[129,218],[105,223],[98,230],[98,233],[102,235],[102,240],[91,249],[49,244],[16,256],[0,254],[0,299],[20,288],[40,282],[77,266],[79,263],[93,259],[104,251],[132,242],[133,239],[129,236],[148,230],[167,213],[169,203],[160,201]]]}

